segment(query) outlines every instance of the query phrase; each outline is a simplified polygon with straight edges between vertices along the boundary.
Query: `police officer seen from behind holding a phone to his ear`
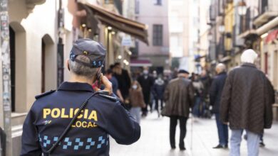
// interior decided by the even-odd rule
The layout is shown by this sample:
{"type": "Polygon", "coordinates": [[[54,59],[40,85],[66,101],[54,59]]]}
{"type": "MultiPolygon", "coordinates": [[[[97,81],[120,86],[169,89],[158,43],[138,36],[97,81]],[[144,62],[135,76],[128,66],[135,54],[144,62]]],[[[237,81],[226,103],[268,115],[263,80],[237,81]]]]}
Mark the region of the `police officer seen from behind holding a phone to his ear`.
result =
{"type": "Polygon", "coordinates": [[[140,138],[140,126],[120,105],[111,83],[101,74],[105,53],[101,44],[90,39],[74,43],[67,61],[70,79],[56,91],[36,96],[24,122],[21,155],[106,156],[109,135],[124,145],[140,138]],[[104,91],[93,89],[97,80],[105,86],[104,91]],[[86,99],[85,108],[81,108],[86,99]],[[69,124],[75,115],[76,121],[69,124]],[[62,133],[66,134],[61,137],[62,133]]]}

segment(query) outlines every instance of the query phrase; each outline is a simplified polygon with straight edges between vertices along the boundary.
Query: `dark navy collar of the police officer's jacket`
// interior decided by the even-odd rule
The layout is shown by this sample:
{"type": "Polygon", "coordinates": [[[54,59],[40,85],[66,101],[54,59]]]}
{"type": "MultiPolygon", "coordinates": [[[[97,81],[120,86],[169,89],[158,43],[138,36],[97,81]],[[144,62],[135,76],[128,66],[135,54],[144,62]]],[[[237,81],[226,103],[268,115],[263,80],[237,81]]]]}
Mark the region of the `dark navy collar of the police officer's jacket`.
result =
{"type": "Polygon", "coordinates": [[[80,82],[63,82],[63,84],[58,87],[58,90],[62,91],[93,91],[93,87],[87,83],[80,82]]]}

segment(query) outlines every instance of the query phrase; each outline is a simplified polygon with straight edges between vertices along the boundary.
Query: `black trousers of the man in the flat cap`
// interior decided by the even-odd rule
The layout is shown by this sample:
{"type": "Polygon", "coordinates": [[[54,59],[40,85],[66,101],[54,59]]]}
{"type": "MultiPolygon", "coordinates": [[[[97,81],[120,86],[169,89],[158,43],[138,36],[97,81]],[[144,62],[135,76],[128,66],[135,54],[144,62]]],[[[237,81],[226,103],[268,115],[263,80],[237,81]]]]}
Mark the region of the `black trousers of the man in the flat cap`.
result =
{"type": "Polygon", "coordinates": [[[179,147],[185,147],[185,135],[186,135],[186,122],[187,118],[183,116],[171,116],[170,117],[170,145],[175,147],[175,128],[177,127],[177,120],[180,122],[180,144],[179,147]]]}

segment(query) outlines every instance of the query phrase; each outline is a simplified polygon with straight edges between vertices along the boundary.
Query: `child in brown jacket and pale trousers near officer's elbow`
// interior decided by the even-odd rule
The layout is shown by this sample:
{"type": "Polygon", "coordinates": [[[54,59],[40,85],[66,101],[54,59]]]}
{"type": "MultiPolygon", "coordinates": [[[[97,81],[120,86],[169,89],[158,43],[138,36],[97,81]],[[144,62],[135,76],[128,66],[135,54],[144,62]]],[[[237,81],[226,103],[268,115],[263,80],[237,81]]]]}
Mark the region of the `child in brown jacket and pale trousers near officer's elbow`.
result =
{"type": "Polygon", "coordinates": [[[131,88],[129,89],[129,99],[130,99],[130,114],[135,118],[135,120],[140,123],[140,111],[141,108],[145,107],[143,92],[140,84],[137,81],[132,83],[131,88]]]}

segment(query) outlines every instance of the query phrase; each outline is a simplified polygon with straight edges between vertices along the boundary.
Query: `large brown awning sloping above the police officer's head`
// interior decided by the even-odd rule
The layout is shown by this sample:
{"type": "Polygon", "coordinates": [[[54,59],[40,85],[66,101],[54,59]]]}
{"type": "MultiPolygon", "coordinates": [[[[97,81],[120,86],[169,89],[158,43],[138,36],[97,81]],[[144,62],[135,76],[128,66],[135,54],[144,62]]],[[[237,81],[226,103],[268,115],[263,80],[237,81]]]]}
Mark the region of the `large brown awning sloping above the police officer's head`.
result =
{"type": "Polygon", "coordinates": [[[111,26],[116,30],[120,30],[123,33],[128,33],[129,35],[132,35],[134,38],[138,38],[138,40],[141,40],[148,45],[148,27],[145,24],[124,18],[123,16],[119,16],[113,12],[105,10],[100,6],[88,3],[78,4],[80,4],[83,9],[85,9],[86,12],[91,15],[92,20],[95,20],[93,18],[96,18],[97,21],[100,21],[107,26],[111,26]]]}

